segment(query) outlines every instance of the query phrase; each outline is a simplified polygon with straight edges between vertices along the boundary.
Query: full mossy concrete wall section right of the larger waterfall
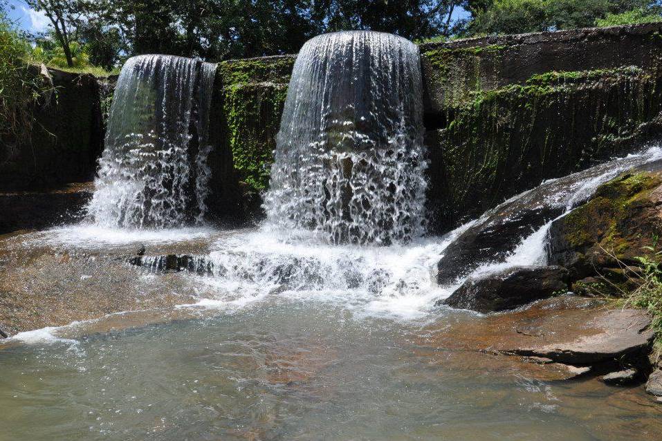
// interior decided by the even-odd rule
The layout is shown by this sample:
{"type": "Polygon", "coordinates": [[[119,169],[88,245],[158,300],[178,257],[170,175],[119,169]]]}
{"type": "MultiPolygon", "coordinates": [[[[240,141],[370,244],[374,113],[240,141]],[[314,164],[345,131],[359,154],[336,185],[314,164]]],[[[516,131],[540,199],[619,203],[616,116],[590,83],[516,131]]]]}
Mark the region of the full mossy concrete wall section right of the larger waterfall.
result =
{"type": "Polygon", "coordinates": [[[421,46],[433,230],[659,135],[662,24],[421,46]]]}

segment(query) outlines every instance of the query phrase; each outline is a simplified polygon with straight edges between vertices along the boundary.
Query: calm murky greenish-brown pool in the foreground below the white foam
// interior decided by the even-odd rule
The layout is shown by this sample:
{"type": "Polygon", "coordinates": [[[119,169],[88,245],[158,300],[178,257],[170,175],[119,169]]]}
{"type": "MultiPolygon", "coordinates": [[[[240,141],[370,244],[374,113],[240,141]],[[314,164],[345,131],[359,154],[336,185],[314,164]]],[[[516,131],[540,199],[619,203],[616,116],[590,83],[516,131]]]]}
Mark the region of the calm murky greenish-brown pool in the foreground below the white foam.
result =
{"type": "Polygon", "coordinates": [[[9,347],[0,424],[12,440],[608,440],[662,430],[641,388],[490,370],[489,355],[425,348],[425,329],[268,301],[9,347]]]}

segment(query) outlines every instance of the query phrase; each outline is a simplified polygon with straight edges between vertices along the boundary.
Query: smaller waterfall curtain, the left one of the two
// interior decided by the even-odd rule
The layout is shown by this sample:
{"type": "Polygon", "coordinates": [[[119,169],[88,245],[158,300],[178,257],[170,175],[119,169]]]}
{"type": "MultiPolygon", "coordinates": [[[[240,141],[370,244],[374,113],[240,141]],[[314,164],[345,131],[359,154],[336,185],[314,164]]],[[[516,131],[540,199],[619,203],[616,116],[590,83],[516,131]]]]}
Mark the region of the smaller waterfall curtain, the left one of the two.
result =
{"type": "Polygon", "coordinates": [[[88,207],[97,225],[201,222],[215,72],[215,64],[167,55],[140,55],[125,63],[88,207]]]}

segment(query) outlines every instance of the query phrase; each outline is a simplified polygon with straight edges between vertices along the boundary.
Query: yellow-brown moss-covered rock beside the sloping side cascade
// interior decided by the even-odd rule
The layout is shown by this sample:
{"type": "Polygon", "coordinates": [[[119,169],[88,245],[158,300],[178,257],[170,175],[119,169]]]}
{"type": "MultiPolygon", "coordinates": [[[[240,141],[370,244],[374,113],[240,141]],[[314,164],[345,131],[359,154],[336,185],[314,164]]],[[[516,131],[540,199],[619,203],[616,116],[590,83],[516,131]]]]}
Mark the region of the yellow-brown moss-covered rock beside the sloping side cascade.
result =
{"type": "Polygon", "coordinates": [[[601,185],[588,203],[552,223],[549,263],[569,268],[573,280],[600,274],[627,284],[638,272],[621,262],[636,265],[645,247],[656,245],[661,204],[660,172],[626,173],[601,185]]]}

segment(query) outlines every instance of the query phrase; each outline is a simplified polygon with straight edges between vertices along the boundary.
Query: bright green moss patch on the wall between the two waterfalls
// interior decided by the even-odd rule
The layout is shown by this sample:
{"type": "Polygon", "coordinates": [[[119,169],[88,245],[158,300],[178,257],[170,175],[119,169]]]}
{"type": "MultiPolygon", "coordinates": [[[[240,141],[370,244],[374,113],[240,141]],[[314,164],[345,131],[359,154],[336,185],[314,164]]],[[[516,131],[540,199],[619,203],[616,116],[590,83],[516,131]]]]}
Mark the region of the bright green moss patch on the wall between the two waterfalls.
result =
{"type": "Polygon", "coordinates": [[[224,89],[232,160],[239,180],[253,191],[268,186],[286,93],[284,84],[239,84],[224,89]]]}

